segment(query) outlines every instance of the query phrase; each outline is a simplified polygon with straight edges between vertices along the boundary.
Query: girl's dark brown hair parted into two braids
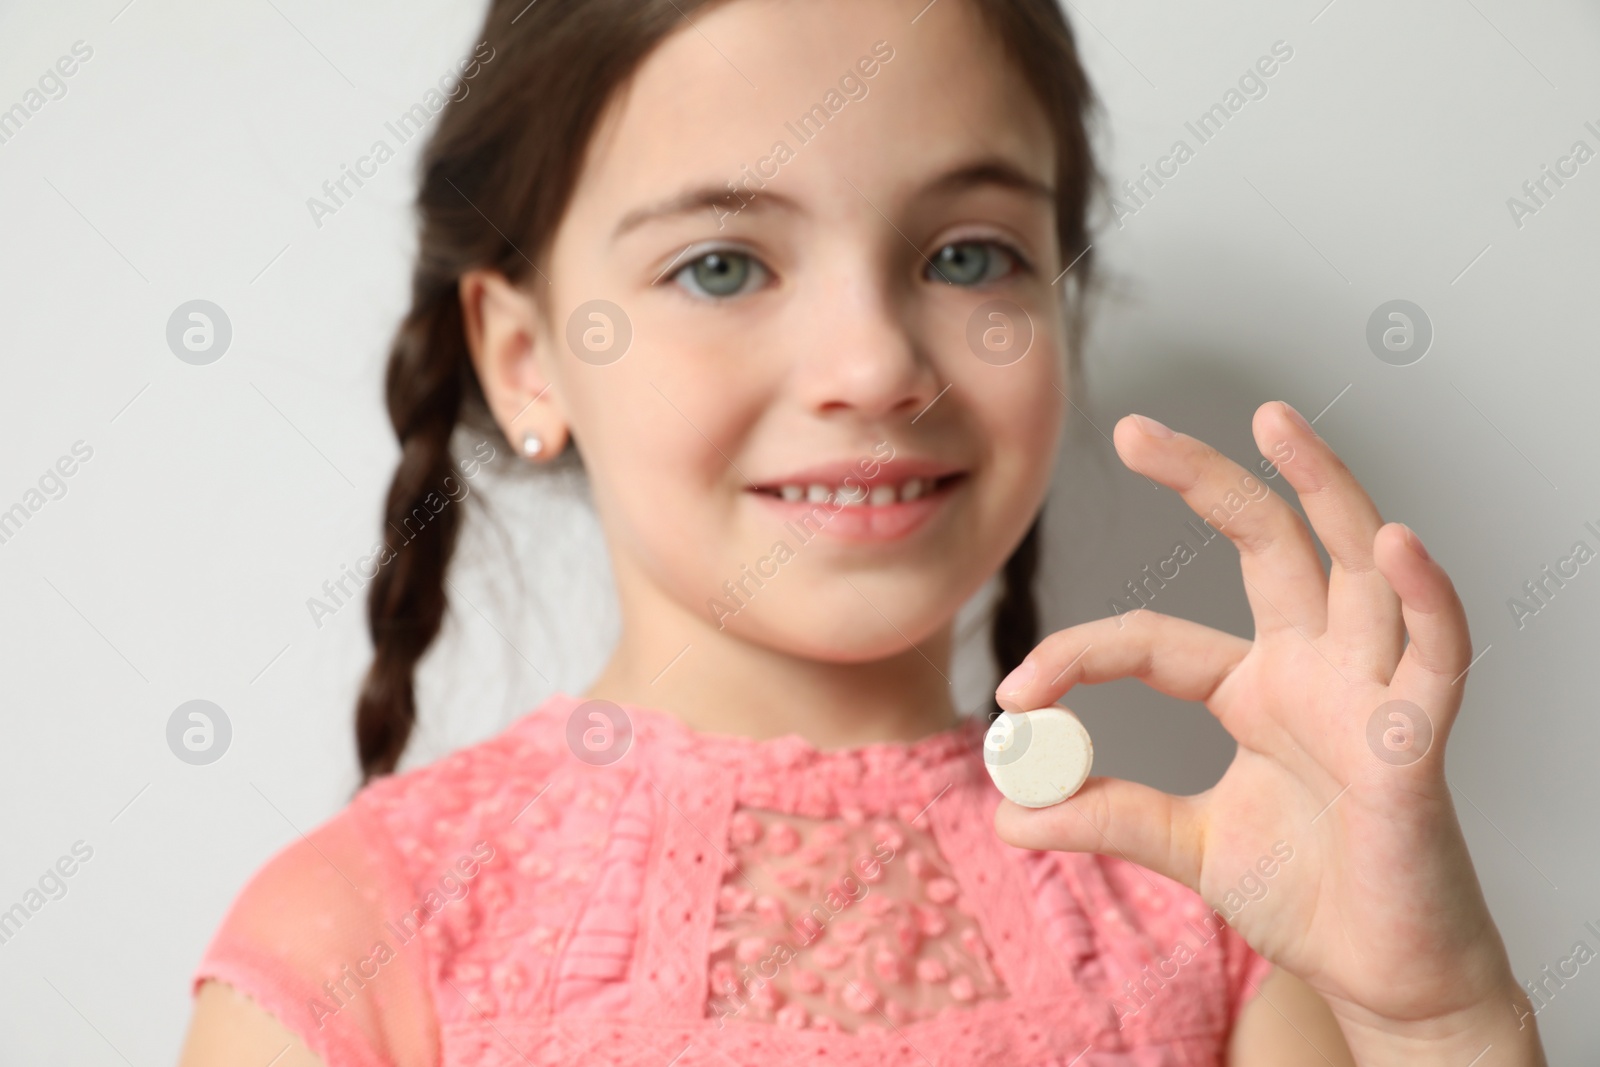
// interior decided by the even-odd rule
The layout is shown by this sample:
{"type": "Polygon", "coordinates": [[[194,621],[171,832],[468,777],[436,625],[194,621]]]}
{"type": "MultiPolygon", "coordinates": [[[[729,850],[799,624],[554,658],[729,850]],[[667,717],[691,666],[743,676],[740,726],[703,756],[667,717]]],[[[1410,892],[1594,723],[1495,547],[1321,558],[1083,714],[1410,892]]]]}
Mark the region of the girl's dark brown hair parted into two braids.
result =
{"type": "MultiPolygon", "coordinates": [[[[366,600],[373,661],[355,707],[363,784],[395,769],[416,723],[416,664],[445,616],[445,574],[462,509],[424,512],[421,531],[408,541],[400,526],[453,474],[458,422],[499,434],[472,370],[458,280],[480,267],[514,283],[538,272],[534,261],[549,250],[605,107],[690,14],[725,2],[494,0],[480,35],[493,51],[472,72],[466,94],[445,104],[437,118],[416,195],[421,234],[411,309],[390,346],[384,379],[400,462],[384,502],[392,558],[384,557],[389,561],[379,566],[366,600]]],[[[1093,96],[1056,0],[966,2],[995,30],[1056,136],[1058,240],[1062,262],[1075,262],[1069,282],[1078,298],[1069,331],[1075,378],[1077,304],[1091,266],[1086,216],[1099,181],[1088,134],[1093,96]]],[[[1002,573],[990,638],[1002,673],[1037,641],[1038,523],[1035,517],[1002,573]]]]}

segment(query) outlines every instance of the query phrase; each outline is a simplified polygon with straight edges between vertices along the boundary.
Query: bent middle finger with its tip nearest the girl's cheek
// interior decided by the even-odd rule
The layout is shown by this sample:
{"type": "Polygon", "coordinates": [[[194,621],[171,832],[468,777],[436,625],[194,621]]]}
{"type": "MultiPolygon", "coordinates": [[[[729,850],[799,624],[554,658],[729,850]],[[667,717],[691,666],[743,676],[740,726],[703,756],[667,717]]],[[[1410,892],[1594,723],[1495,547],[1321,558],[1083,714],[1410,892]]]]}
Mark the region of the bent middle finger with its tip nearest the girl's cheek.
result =
{"type": "Polygon", "coordinates": [[[1328,576],[1301,517],[1205,442],[1162,430],[1166,427],[1142,416],[1122,419],[1112,432],[1117,454],[1130,469],[1176,490],[1234,542],[1258,637],[1285,629],[1320,635],[1328,617],[1328,576]]]}

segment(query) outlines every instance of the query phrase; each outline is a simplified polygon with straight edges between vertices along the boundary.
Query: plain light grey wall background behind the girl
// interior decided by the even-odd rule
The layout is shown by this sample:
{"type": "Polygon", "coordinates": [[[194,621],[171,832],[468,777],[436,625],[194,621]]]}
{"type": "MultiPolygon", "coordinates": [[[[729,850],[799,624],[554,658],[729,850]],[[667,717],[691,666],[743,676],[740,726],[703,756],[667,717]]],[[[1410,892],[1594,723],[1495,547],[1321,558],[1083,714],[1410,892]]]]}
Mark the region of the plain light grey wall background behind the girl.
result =
{"type": "MultiPolygon", "coordinates": [[[[1256,405],[1322,413],[1317,429],[1470,609],[1483,657],[1450,773],[1518,977],[1578,941],[1600,949],[1584,929],[1600,926],[1600,563],[1523,629],[1507,609],[1574,541],[1600,547],[1584,528],[1600,526],[1600,160],[1522,227],[1506,206],[1576,139],[1600,149],[1584,128],[1600,126],[1600,10],[1082,0],[1072,18],[1107,104],[1114,182],[1274,42],[1294,58],[1146,208],[1101,230],[1110,286],[1053,498],[1048,621],[1104,614],[1182,534],[1182,504],[1117,462],[1106,432],[1120,414],[1253,462],[1256,405]],[[1395,298],[1437,330],[1405,368],[1363,339],[1395,298]]],[[[419,142],[320,229],[306,198],[477,27],[475,5],[438,0],[0,11],[0,107],[75,40],[94,50],[0,144],[0,509],[74,442],[94,450],[66,498],[0,544],[0,909],[74,841],[94,849],[0,945],[6,1064],[171,1062],[190,968],[232,894],[355,784],[362,608],[318,629],[306,598],[376,537],[395,459],[379,374],[405,306],[419,142]],[[197,298],[234,326],[210,366],[165,342],[168,315],[197,298]],[[173,709],[197,697],[234,728],[211,766],[165,742],[173,709]]],[[[507,539],[469,523],[466,600],[427,662],[411,763],[552,688],[581,691],[614,633],[582,486],[477,488],[507,539]]],[[[1157,606],[1248,633],[1235,558],[1208,547],[1157,606]]],[[[960,678],[976,707],[992,685],[976,643],[960,678]]],[[[1131,683],[1070,699],[1098,771],[1198,790],[1226,766],[1232,744],[1198,707],[1131,683]]],[[[1590,965],[1539,1017],[1552,1062],[1594,1062],[1597,1009],[1590,965]]]]}

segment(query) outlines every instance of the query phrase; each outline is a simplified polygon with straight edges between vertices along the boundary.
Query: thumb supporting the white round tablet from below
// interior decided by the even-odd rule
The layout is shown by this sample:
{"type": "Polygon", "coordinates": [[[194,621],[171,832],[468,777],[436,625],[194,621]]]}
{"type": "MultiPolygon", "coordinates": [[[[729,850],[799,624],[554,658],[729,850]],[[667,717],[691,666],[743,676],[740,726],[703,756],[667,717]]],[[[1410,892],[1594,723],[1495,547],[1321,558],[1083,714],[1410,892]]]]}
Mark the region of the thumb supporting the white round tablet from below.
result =
{"type": "Polygon", "coordinates": [[[1190,889],[1200,885],[1205,835],[1197,801],[1120,777],[1091,777],[1050,808],[1002,800],[995,833],[1018,848],[1120,856],[1190,889]]]}

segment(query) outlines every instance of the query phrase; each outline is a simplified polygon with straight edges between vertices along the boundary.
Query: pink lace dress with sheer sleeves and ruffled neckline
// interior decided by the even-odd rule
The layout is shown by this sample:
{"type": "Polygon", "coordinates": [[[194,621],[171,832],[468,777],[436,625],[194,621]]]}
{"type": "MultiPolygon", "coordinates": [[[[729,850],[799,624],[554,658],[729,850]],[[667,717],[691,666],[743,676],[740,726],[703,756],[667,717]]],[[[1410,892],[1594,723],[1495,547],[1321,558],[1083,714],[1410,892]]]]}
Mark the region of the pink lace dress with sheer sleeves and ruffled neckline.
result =
{"type": "Polygon", "coordinates": [[[194,990],[328,1067],[1197,1067],[1270,969],[1171,880],[1000,841],[979,720],[824,752],[605,707],[363,789],[194,990]]]}

